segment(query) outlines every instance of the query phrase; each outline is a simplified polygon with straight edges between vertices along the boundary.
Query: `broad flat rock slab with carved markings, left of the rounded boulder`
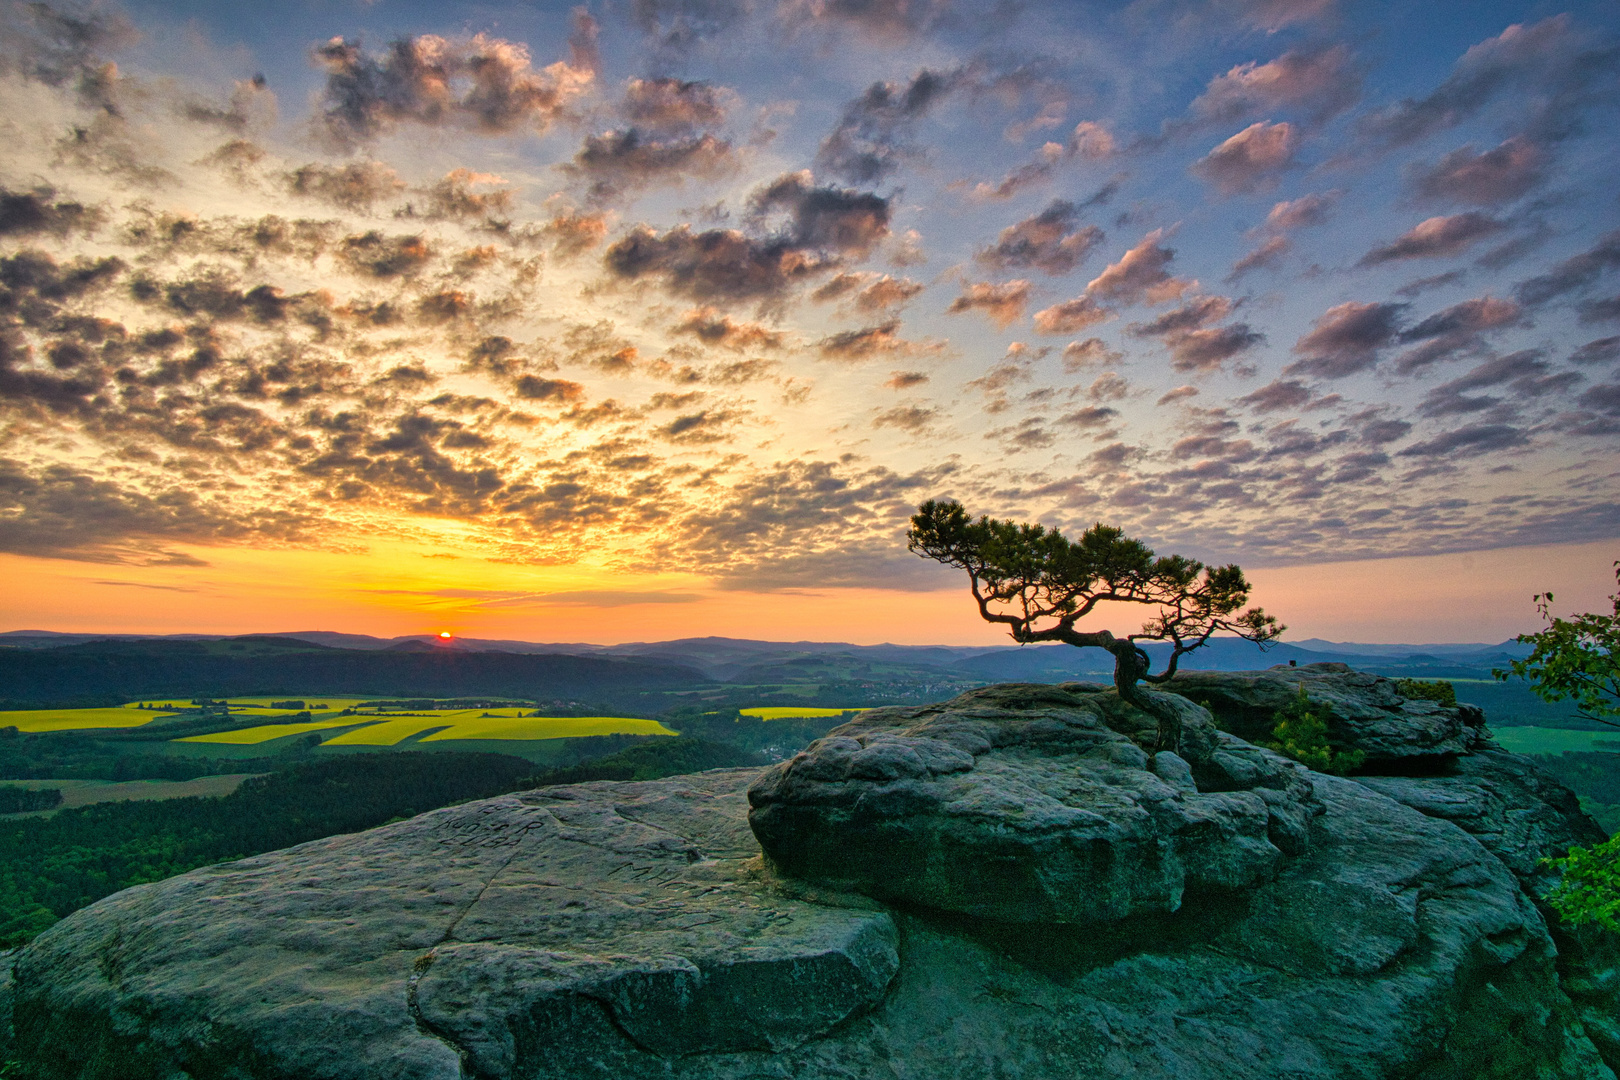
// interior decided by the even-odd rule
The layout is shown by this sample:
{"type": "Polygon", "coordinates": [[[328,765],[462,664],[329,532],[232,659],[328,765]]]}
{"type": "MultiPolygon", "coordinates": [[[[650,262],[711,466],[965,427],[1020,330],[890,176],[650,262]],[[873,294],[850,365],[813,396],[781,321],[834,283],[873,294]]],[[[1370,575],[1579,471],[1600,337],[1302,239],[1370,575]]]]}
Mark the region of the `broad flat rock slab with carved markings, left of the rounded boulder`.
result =
{"type": "Polygon", "coordinates": [[[128,889],[23,954],[18,1038],[47,1075],[128,1078],[804,1043],[881,999],[894,925],[750,878],[753,776],[549,789],[128,889]]]}

